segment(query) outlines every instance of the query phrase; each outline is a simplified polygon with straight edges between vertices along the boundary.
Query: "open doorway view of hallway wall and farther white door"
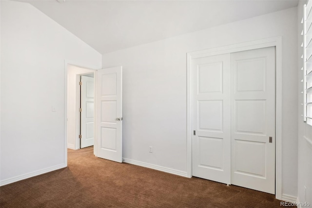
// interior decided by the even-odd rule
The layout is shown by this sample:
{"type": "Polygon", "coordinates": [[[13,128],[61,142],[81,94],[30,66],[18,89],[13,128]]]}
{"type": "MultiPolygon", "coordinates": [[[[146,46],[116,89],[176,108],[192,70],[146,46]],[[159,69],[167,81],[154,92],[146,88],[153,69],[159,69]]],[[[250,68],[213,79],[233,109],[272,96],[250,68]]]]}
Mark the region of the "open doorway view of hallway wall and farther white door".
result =
{"type": "MultiPolygon", "coordinates": [[[[67,64],[67,148],[79,149],[88,143],[91,144],[88,146],[94,145],[94,102],[87,100],[94,97],[94,75],[95,70],[67,64]],[[80,85],[81,78],[88,80],[84,88],[80,85]],[[84,103],[80,102],[82,90],[85,91],[83,94],[88,90],[84,103]],[[81,121],[84,125],[81,125],[81,121]]],[[[94,154],[95,151],[94,148],[94,154]]]]}

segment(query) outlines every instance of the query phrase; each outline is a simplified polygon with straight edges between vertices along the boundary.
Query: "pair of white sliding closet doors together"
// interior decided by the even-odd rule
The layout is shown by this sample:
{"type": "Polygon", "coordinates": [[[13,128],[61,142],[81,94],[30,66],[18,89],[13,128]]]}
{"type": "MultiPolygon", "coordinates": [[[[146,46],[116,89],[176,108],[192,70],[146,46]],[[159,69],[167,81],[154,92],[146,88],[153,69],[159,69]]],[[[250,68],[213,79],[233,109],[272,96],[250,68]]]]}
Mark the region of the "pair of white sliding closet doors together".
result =
{"type": "Polygon", "coordinates": [[[276,194],[280,83],[276,44],[270,46],[188,54],[191,176],[276,194]]]}

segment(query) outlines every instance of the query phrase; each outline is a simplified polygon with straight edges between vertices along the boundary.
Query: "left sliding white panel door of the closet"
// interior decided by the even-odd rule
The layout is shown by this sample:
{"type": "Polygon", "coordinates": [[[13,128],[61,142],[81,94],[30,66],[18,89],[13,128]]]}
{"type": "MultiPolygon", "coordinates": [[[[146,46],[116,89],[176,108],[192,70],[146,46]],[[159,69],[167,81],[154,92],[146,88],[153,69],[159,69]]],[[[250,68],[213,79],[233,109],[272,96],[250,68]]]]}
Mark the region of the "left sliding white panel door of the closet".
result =
{"type": "Polygon", "coordinates": [[[193,59],[192,175],[231,183],[230,54],[193,59]]]}

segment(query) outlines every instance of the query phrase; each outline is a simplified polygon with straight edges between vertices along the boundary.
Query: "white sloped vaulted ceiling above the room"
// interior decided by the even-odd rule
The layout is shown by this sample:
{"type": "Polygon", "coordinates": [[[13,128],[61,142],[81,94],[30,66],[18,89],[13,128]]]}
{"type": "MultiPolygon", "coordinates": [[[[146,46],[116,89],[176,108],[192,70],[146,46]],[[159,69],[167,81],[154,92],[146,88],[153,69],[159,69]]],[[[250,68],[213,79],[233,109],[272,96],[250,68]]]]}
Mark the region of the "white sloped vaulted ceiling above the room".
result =
{"type": "Polygon", "coordinates": [[[298,0],[30,0],[99,53],[295,7],[298,0]]]}

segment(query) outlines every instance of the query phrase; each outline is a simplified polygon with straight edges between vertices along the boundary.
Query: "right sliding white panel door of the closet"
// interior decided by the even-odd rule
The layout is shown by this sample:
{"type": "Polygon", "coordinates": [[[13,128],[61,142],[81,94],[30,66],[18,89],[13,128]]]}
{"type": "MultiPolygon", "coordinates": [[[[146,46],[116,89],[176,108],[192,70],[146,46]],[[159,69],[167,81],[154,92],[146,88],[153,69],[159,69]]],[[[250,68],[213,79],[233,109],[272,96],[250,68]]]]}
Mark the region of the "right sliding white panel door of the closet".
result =
{"type": "Polygon", "coordinates": [[[231,54],[231,71],[231,182],[274,194],[275,47],[231,54]]]}

